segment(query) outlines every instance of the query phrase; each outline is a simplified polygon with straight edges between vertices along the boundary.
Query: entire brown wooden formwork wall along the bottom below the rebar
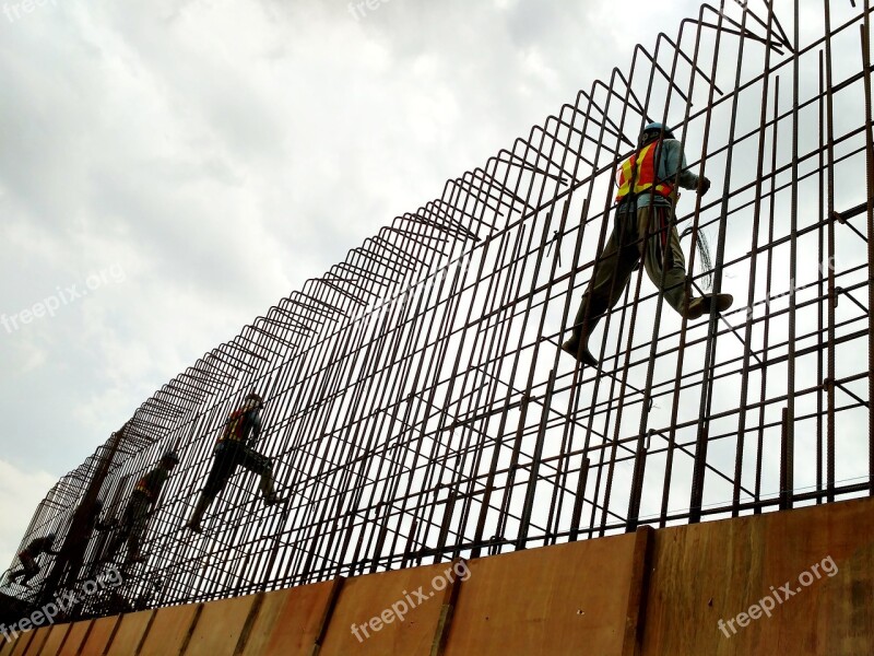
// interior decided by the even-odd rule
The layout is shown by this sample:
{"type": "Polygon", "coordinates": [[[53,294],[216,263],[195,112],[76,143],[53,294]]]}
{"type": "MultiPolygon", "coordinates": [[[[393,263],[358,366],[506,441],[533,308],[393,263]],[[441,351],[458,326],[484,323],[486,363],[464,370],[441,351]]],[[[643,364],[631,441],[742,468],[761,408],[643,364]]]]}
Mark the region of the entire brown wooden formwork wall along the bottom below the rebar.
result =
{"type": "Polygon", "coordinates": [[[46,628],[0,656],[874,654],[874,500],[46,628]]]}

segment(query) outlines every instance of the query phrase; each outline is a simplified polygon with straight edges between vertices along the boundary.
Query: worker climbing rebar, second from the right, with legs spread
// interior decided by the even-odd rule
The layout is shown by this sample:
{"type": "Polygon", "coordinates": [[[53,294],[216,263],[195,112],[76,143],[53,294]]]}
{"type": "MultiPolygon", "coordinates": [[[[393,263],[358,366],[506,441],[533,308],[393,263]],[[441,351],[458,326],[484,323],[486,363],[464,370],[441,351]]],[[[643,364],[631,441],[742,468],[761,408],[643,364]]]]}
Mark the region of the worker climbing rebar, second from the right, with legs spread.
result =
{"type": "Polygon", "coordinates": [[[203,529],[200,523],[203,515],[210,507],[213,499],[224,490],[227,481],[234,476],[237,466],[244,467],[249,471],[261,477],[259,489],[264,497],[264,503],[272,506],[284,503],[284,500],[276,495],[273,483],[273,464],[270,458],[259,454],[252,445],[261,434],[261,410],[264,401],[255,393],[249,394],[243,406],[234,410],[225,422],[224,430],[218,437],[218,444],[213,452],[213,464],[203,491],[200,494],[194,513],[186,525],[194,532],[203,529]]]}

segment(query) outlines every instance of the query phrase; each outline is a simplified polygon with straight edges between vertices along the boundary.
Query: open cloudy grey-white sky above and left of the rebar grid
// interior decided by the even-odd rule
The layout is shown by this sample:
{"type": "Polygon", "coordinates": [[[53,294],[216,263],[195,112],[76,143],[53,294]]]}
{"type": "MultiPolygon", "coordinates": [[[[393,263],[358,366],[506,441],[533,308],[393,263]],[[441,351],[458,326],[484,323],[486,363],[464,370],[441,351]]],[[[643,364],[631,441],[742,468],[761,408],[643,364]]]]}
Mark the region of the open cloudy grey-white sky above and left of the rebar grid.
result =
{"type": "Polygon", "coordinates": [[[699,5],[0,2],[3,563],[156,388],[699,5]]]}

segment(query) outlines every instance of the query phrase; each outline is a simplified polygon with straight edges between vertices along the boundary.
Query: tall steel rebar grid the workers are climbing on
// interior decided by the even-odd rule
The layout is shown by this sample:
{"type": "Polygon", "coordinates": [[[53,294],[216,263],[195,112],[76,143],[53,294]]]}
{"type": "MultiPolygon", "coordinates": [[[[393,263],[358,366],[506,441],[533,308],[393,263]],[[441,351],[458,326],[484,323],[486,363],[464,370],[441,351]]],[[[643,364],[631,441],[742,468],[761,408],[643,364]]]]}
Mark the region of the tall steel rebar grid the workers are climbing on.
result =
{"type": "Polygon", "coordinates": [[[869,0],[704,4],[637,46],[158,389],[39,505],[22,548],[54,530],[62,555],[12,589],[101,577],[94,502],[118,517],[170,448],[146,561],[80,616],[874,494],[870,16],[869,0]],[[558,344],[650,121],[712,180],[676,209],[692,289],[735,304],[682,319],[638,268],[591,341],[601,368],[581,367],[558,344]],[[287,513],[240,470],[192,534],[250,391],[287,513]]]}

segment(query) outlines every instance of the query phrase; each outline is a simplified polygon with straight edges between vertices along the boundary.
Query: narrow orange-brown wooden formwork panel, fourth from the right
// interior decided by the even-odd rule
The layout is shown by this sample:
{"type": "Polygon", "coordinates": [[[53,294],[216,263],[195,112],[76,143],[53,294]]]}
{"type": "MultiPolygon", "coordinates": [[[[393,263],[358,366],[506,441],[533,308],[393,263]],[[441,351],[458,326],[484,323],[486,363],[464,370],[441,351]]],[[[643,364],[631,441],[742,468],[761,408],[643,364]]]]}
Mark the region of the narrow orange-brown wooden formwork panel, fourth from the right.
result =
{"type": "Polygon", "coordinates": [[[333,586],[327,581],[267,593],[243,656],[310,656],[333,586]]]}

